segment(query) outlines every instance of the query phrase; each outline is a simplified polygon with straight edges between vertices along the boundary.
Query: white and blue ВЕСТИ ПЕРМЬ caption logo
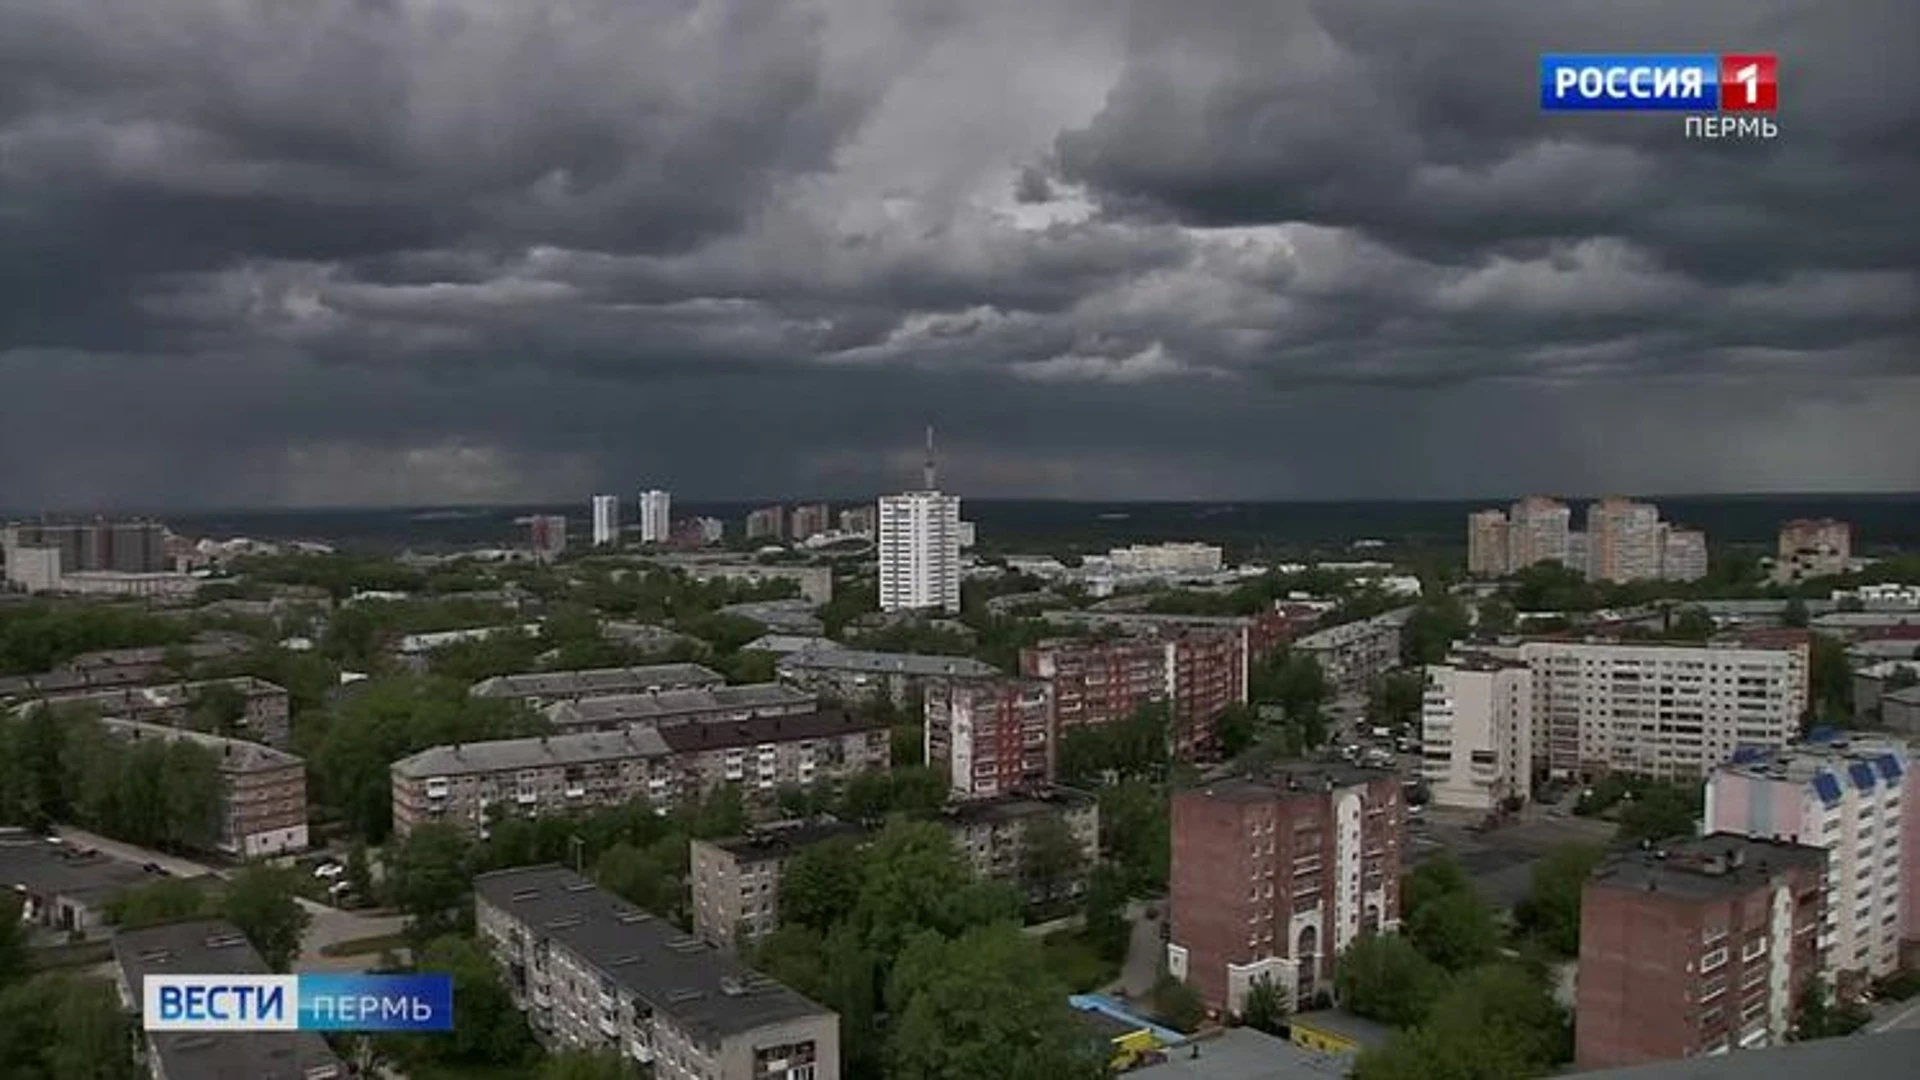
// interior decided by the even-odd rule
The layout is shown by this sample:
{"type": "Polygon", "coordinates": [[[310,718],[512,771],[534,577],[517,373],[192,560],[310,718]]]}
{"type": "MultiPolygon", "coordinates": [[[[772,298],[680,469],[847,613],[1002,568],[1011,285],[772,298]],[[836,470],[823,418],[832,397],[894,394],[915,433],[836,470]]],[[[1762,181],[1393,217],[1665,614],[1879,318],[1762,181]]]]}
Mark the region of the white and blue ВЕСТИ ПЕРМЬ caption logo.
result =
{"type": "Polygon", "coordinates": [[[150,1032],[449,1032],[449,974],[150,974],[150,1032]]]}

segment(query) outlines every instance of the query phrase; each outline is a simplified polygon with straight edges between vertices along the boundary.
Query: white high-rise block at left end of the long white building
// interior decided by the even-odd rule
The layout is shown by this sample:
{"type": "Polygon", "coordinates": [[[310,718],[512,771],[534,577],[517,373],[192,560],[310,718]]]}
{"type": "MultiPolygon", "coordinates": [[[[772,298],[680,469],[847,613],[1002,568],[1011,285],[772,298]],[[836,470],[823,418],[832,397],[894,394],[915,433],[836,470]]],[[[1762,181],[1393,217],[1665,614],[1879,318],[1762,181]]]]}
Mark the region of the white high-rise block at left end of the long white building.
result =
{"type": "Polygon", "coordinates": [[[1465,653],[1430,665],[1421,700],[1421,776],[1434,805],[1492,811],[1505,799],[1526,799],[1532,707],[1524,663],[1465,653]]]}

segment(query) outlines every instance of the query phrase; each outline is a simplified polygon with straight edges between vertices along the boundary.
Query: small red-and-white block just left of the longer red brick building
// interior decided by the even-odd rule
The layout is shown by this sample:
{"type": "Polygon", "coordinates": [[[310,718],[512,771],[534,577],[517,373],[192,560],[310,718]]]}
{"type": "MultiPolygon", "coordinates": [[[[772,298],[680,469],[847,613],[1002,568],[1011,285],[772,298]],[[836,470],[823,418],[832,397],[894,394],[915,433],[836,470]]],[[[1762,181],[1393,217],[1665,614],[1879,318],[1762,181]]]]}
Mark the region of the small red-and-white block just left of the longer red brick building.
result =
{"type": "Polygon", "coordinates": [[[925,694],[925,761],[958,796],[1054,778],[1054,688],[1041,678],[939,682],[925,694]]]}

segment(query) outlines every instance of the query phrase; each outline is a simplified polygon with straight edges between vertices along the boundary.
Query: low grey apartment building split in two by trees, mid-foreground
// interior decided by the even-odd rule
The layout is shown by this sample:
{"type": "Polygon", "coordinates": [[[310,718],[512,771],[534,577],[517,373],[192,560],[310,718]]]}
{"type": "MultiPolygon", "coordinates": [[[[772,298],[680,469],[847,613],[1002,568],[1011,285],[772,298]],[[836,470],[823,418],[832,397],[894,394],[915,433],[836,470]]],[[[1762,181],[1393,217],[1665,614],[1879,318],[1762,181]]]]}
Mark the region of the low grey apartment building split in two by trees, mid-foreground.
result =
{"type": "MultiPolygon", "coordinates": [[[[975,876],[1021,886],[1027,826],[1043,817],[1062,819],[1079,846],[1081,865],[1068,882],[1068,894],[1077,896],[1100,855],[1100,805],[1092,796],[1043,786],[954,801],[933,821],[975,876]]],[[[693,932],[724,949],[760,942],[780,926],[781,874],[797,855],[833,840],[866,844],[872,834],[864,824],[818,819],[768,822],[732,840],[693,840],[693,932]]]]}

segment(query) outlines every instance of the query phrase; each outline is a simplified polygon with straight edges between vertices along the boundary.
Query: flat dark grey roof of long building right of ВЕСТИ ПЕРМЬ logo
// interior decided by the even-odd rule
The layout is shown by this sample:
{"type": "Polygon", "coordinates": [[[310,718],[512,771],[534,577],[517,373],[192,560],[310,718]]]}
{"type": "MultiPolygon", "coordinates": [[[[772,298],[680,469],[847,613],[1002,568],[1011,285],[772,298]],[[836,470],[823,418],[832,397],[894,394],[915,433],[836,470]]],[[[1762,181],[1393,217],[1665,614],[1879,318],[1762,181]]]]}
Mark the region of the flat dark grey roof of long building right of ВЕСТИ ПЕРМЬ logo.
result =
{"type": "Polygon", "coordinates": [[[564,867],[518,867],[474,878],[480,901],[549,938],[708,1042],[833,1011],[755,972],[564,867]]]}

